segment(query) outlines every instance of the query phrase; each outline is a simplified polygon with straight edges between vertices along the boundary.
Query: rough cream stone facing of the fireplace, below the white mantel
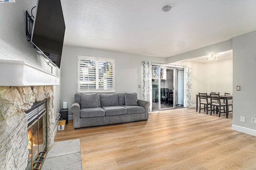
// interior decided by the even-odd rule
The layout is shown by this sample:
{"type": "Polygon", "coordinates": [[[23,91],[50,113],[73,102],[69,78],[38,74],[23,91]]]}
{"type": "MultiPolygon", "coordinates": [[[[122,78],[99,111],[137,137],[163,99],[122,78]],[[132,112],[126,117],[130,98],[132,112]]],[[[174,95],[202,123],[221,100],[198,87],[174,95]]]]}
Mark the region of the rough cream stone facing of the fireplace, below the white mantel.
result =
{"type": "Polygon", "coordinates": [[[34,102],[47,99],[48,149],[54,143],[53,86],[0,86],[0,170],[24,170],[28,161],[28,116],[34,102]]]}

